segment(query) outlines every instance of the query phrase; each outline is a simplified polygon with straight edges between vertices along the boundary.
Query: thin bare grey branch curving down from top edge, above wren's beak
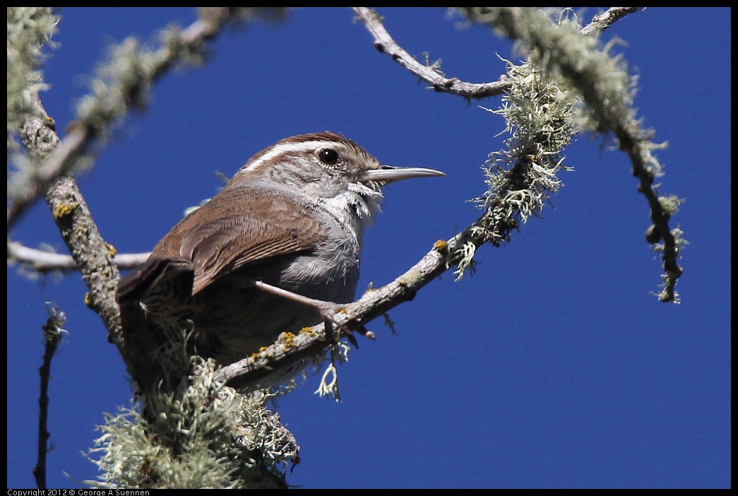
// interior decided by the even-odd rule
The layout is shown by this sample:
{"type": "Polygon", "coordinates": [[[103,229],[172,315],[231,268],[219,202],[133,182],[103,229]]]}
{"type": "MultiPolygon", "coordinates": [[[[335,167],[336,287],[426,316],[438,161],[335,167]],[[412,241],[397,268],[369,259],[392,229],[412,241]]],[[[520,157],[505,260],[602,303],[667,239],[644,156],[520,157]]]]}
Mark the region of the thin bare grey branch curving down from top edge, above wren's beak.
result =
{"type": "Polygon", "coordinates": [[[456,77],[446,77],[438,69],[432,66],[426,66],[415,60],[409,53],[405,52],[396,41],[390,36],[390,33],[384,29],[382,19],[375,11],[367,7],[353,7],[356,16],[367,27],[367,30],[374,37],[374,47],[379,52],[386,53],[392,57],[405,69],[420,77],[426,83],[429,83],[436,92],[457,94],[464,98],[482,98],[494,97],[503,94],[510,88],[510,83],[505,77],[500,77],[494,83],[466,83],[458,80],[456,77]]]}

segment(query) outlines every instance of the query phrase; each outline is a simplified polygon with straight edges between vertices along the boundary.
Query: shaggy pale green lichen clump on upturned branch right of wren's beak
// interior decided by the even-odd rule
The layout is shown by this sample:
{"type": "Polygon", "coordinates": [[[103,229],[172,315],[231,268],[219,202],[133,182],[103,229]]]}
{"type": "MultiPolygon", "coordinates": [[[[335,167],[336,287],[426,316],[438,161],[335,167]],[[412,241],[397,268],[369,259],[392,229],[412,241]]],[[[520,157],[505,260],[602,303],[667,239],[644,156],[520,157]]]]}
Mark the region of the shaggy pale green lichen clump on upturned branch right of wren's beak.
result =
{"type": "MultiPolygon", "coordinates": [[[[539,216],[549,194],[559,190],[562,182],[556,174],[570,170],[562,165],[562,151],[576,134],[570,121],[576,104],[573,94],[531,63],[506,62],[511,89],[501,108],[486,110],[505,117],[503,132],[510,137],[503,150],[489,154],[483,168],[489,189],[474,201],[485,213],[471,230],[473,238],[495,246],[507,241],[509,232],[521,223],[539,216]]],[[[472,241],[455,248],[457,280],[467,269],[474,269],[475,251],[472,241]]]]}

